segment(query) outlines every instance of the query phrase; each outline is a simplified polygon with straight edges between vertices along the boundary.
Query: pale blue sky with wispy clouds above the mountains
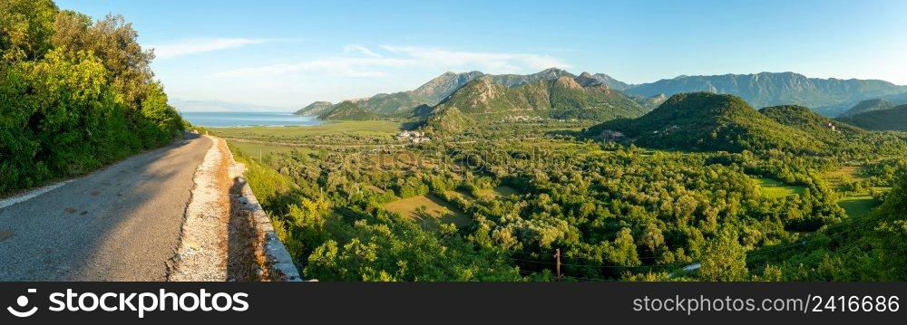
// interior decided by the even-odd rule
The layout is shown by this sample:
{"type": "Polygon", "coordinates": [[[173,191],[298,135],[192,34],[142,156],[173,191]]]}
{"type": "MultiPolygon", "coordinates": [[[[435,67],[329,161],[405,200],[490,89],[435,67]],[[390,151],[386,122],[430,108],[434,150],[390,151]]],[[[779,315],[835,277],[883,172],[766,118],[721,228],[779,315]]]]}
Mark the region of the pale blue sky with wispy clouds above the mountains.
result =
{"type": "Polygon", "coordinates": [[[907,84],[907,1],[57,0],[123,14],[173,99],[291,109],[447,71],[629,83],[800,72],[907,84]]]}

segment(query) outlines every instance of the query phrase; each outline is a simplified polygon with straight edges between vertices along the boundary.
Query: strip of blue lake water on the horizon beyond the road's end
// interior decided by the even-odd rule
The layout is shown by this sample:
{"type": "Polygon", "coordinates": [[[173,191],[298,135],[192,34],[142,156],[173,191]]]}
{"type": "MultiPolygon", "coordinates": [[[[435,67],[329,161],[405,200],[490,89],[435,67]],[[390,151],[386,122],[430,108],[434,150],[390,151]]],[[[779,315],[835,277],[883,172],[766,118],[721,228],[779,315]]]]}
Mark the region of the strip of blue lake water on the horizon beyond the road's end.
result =
{"type": "Polygon", "coordinates": [[[297,116],[290,113],[187,111],[182,113],[182,117],[188,119],[192,125],[207,128],[288,127],[321,124],[321,121],[314,116],[297,116]]]}

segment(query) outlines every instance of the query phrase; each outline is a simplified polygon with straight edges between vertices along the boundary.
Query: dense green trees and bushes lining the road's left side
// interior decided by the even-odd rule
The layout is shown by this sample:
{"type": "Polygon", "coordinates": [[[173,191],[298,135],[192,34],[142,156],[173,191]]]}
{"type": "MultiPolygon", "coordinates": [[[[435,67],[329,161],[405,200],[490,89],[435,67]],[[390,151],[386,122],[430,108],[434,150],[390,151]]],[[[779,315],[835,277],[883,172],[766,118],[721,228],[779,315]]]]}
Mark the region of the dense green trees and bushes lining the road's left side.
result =
{"type": "Polygon", "coordinates": [[[181,134],[151,51],[121,16],[0,2],[0,194],[80,175],[181,134]]]}

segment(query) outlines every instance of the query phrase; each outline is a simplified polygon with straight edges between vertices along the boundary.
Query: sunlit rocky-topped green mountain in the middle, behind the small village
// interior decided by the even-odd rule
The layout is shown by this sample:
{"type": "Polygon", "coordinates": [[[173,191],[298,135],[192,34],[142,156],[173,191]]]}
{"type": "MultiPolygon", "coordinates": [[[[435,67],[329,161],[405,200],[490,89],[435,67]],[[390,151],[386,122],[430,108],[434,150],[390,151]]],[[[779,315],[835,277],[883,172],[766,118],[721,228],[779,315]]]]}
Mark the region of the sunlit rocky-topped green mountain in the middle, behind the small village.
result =
{"type": "Polygon", "coordinates": [[[444,99],[425,124],[434,130],[456,131],[470,119],[476,123],[535,118],[609,120],[634,118],[648,111],[607,85],[583,87],[574,78],[564,74],[556,80],[541,78],[506,87],[486,76],[470,81],[444,99]]]}

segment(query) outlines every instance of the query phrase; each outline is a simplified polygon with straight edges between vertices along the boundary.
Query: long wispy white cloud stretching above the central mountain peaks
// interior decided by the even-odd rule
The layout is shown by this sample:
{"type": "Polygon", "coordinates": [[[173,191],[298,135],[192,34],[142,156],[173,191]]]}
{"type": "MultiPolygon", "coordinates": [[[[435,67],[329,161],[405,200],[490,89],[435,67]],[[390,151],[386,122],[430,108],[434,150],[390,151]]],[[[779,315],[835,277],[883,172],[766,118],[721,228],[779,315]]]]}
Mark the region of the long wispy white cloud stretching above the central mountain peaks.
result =
{"type": "Polygon", "coordinates": [[[386,75],[393,68],[428,67],[434,70],[481,70],[488,73],[534,72],[570,65],[550,55],[532,53],[463,52],[421,46],[381,46],[394,54],[382,56],[361,45],[347,45],[345,53],[362,53],[366,57],[333,56],[306,62],[273,64],[240,68],[216,73],[216,77],[267,77],[297,72],[323,72],[347,77],[386,75]],[[371,53],[371,54],[369,54],[371,53]],[[374,55],[373,55],[374,54],[374,55]]]}

